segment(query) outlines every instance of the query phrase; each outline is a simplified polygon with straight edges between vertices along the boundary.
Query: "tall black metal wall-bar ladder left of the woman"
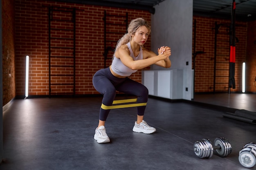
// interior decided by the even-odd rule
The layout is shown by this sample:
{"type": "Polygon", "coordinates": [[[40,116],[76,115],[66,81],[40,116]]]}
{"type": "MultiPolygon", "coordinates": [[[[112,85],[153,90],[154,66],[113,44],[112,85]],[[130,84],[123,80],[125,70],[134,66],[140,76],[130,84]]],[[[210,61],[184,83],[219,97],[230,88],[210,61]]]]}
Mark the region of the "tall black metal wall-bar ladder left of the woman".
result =
{"type": "Polygon", "coordinates": [[[49,97],[75,95],[76,9],[49,7],[49,97]]]}

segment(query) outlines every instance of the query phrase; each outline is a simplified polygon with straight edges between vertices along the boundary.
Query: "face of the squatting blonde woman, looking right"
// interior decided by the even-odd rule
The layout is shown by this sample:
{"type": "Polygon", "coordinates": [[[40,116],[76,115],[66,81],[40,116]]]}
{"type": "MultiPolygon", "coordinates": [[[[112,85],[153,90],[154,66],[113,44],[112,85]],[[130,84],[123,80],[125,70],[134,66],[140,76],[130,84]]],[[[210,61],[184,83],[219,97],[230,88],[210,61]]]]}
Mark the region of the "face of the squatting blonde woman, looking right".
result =
{"type": "Polygon", "coordinates": [[[136,42],[139,45],[144,45],[148,40],[148,29],[146,26],[141,26],[134,35],[132,35],[132,41],[136,42]]]}

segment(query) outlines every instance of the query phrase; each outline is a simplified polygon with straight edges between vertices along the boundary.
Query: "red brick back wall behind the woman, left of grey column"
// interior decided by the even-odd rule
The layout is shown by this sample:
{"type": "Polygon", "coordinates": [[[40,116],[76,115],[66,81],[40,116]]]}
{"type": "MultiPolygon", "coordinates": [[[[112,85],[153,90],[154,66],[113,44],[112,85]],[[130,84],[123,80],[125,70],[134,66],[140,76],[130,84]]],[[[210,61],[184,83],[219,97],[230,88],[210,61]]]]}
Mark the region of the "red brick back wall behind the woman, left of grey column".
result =
{"type": "MultiPolygon", "coordinates": [[[[16,55],[16,95],[22,96],[25,93],[25,56],[29,55],[29,95],[49,95],[49,39],[48,39],[48,7],[75,8],[76,9],[76,94],[98,94],[92,86],[94,73],[104,68],[104,11],[111,15],[126,15],[128,21],[142,17],[150,22],[148,11],[119,9],[112,7],[101,7],[83,4],[48,2],[44,0],[15,0],[15,55],[16,55]]],[[[56,14],[58,18],[69,18],[68,14],[56,14]]],[[[124,21],[116,21],[124,22],[124,21]]],[[[57,24],[63,29],[70,29],[71,24],[57,24]]],[[[120,32],[118,27],[113,26],[111,31],[120,32]]],[[[125,29],[122,29],[124,33],[125,29]]],[[[56,34],[63,38],[72,35],[56,34]]],[[[122,35],[113,36],[114,46],[122,35]]],[[[111,38],[111,37],[110,37],[111,38]]],[[[62,43],[63,46],[70,46],[69,43],[62,43]]],[[[112,44],[111,44],[112,45],[112,44]]],[[[109,46],[109,44],[107,44],[109,46]]],[[[145,48],[150,49],[150,38],[145,48]]],[[[66,55],[67,52],[53,51],[54,55],[66,55]],[[63,54],[61,54],[63,53],[63,54]]],[[[72,53],[72,52],[70,52],[72,53]]],[[[112,57],[112,51],[109,52],[112,57]]],[[[56,64],[70,64],[73,61],[57,60],[56,64]]],[[[108,59],[107,66],[111,59],[108,59]]],[[[72,69],[63,68],[61,73],[72,74],[72,69]]],[[[60,78],[62,83],[70,82],[70,78],[60,78]]],[[[132,79],[141,82],[141,71],[133,74],[132,79]]],[[[55,81],[52,79],[51,81],[55,81]]],[[[66,89],[70,86],[64,86],[66,89]]],[[[53,91],[60,90],[60,86],[53,88],[53,91]]],[[[64,93],[67,93],[65,91],[64,93]]]]}

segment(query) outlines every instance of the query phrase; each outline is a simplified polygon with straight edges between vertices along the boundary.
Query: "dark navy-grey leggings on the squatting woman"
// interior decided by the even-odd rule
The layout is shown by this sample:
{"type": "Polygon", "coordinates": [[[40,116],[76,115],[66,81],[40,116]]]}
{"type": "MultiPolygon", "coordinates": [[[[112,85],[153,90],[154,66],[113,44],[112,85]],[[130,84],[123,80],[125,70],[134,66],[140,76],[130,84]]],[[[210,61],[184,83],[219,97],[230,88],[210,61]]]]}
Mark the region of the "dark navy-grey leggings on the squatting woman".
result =
{"type": "MultiPolygon", "coordinates": [[[[112,106],[116,96],[116,91],[137,96],[137,103],[148,102],[148,89],[139,82],[132,79],[118,78],[112,75],[110,68],[103,68],[97,71],[93,78],[92,83],[94,88],[103,95],[102,104],[105,106],[112,106]]],[[[137,115],[144,115],[146,106],[137,107],[137,115]]],[[[100,109],[99,119],[106,121],[109,110],[100,109]]]]}

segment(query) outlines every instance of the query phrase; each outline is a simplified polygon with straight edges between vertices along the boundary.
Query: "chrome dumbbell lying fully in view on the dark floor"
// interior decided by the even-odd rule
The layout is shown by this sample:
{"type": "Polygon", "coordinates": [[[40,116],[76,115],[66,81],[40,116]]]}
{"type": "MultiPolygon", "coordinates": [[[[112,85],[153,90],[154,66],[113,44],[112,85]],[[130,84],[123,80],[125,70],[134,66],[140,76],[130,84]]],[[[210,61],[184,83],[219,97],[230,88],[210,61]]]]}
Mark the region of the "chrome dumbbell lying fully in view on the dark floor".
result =
{"type": "Polygon", "coordinates": [[[213,150],[216,150],[216,155],[226,157],[232,152],[232,146],[227,139],[222,137],[216,138],[214,145],[211,144],[209,139],[202,139],[202,141],[196,141],[194,143],[195,155],[200,158],[212,157],[213,150]]]}

